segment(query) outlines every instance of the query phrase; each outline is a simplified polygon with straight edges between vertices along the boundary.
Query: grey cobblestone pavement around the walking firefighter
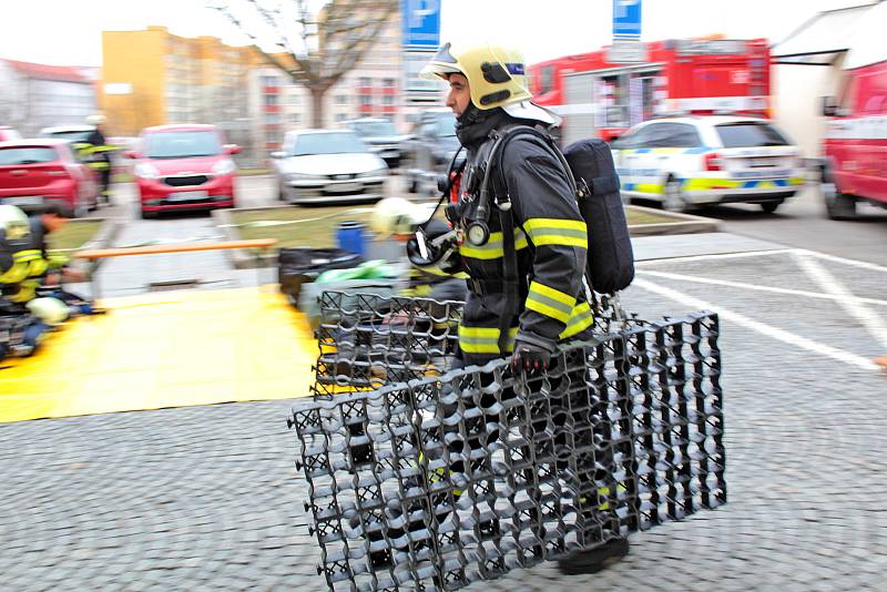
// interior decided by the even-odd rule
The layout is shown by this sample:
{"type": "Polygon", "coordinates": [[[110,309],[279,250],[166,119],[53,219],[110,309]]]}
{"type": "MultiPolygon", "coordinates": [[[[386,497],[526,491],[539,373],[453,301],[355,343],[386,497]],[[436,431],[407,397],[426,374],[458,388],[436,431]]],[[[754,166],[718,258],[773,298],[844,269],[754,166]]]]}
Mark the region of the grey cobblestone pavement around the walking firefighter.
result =
{"type": "MultiPolygon", "coordinates": [[[[887,354],[877,334],[887,273],[817,259],[857,296],[880,298],[856,303],[868,318],[834,300],[667,275],[823,293],[801,258],[651,262],[623,298],[649,318],[687,312],[690,298],[730,312],[727,506],[632,535],[629,558],[594,576],[546,564],[468,590],[884,590],[887,376],[860,360],[887,354]]],[[[290,405],[0,426],[0,589],[324,590],[290,405]]]]}

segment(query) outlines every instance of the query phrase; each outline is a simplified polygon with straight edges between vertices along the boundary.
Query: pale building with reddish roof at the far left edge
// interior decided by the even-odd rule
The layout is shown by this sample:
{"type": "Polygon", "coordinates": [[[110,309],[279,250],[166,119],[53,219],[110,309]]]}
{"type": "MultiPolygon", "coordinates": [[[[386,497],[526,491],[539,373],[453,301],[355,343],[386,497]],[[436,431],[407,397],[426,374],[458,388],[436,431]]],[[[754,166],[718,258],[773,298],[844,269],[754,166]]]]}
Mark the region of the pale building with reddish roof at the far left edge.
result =
{"type": "Polygon", "coordinates": [[[94,80],[89,68],[0,59],[0,124],[26,136],[52,125],[82,125],[98,109],[94,80]]]}

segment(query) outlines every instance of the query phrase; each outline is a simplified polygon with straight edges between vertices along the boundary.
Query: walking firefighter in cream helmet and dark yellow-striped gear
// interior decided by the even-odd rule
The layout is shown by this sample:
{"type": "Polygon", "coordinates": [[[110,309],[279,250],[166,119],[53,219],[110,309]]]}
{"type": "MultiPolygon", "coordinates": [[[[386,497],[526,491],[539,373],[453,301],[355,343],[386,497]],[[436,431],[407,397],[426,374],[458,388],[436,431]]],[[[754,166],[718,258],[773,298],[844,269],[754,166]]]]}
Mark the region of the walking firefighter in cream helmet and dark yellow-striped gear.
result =
{"type": "MultiPolygon", "coordinates": [[[[460,361],[510,356],[516,369],[548,368],[558,344],[590,337],[594,324],[583,284],[587,226],[569,173],[544,140],[520,133],[501,146],[497,142],[511,127],[548,130],[560,119],[530,101],[523,59],[504,48],[447,43],[421,75],[449,84],[447,106],[467,150],[459,200],[447,210],[458,261],[448,259],[446,267],[469,276],[460,361]]],[[[417,236],[408,252],[427,253],[421,242],[417,236]]],[[[597,572],[625,553],[628,540],[620,538],[573,552],[560,568],[597,572]]]]}

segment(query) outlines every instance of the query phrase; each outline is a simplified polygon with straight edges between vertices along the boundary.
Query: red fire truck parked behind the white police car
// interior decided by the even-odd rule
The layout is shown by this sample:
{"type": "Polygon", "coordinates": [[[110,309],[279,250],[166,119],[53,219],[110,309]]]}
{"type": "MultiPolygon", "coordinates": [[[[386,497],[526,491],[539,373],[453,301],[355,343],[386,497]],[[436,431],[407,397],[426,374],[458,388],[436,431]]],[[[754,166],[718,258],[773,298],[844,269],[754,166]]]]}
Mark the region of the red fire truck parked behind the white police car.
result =
{"type": "Polygon", "coordinates": [[[642,62],[611,59],[619,58],[605,47],[529,68],[533,100],[563,116],[564,143],[611,140],[660,114],[769,115],[764,39],[654,41],[642,62]]]}

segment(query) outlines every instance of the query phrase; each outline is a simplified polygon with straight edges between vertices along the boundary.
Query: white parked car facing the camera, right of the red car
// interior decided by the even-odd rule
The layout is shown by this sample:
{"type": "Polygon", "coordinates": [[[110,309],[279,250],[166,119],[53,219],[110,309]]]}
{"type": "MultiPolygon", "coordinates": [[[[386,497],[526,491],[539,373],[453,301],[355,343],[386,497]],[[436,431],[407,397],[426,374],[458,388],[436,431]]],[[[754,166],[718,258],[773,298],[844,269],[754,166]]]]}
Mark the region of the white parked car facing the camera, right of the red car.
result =
{"type": "Polygon", "coordinates": [[[348,130],[287,132],[272,153],[281,201],[294,204],[384,197],[388,165],[348,130]]]}

